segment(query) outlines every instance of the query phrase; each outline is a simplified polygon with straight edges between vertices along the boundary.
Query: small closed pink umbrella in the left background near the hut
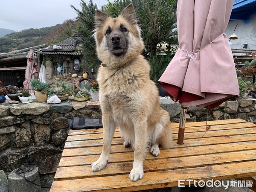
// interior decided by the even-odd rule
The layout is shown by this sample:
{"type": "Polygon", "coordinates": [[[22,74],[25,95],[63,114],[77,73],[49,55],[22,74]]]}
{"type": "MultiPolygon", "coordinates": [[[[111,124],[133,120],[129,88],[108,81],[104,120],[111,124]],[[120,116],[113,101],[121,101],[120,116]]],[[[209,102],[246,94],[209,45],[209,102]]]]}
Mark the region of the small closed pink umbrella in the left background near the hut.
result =
{"type": "Polygon", "coordinates": [[[30,85],[31,79],[35,77],[35,73],[37,73],[37,63],[34,64],[34,51],[33,49],[29,50],[29,53],[26,55],[27,58],[27,66],[26,66],[26,73],[25,73],[25,81],[23,82],[24,89],[29,89],[29,93],[35,93],[32,90],[30,85]]]}

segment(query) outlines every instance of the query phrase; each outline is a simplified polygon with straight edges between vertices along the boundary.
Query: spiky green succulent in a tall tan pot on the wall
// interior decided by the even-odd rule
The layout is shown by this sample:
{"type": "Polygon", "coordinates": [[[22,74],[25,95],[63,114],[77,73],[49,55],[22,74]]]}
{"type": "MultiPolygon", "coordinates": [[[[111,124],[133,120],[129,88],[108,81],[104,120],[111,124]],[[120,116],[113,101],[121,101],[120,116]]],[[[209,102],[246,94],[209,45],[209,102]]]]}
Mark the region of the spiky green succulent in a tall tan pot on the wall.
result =
{"type": "Polygon", "coordinates": [[[37,102],[46,102],[49,92],[49,84],[34,78],[30,81],[30,85],[35,89],[35,99],[37,102]]]}

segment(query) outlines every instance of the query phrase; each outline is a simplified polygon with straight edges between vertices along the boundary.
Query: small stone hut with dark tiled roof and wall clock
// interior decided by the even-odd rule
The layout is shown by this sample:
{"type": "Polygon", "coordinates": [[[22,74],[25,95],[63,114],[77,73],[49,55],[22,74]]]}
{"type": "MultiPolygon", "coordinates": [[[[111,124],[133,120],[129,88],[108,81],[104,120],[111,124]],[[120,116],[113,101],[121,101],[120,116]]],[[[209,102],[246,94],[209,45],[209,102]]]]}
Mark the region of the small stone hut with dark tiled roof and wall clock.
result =
{"type": "MultiPolygon", "coordinates": [[[[92,70],[87,65],[82,53],[75,50],[75,39],[72,37],[38,50],[38,63],[42,64],[44,59],[47,61],[49,58],[52,62],[45,62],[46,81],[49,84],[54,84],[56,81],[73,84],[74,80],[82,78],[83,69],[81,64],[88,72],[88,78],[96,79],[96,73],[92,73],[94,69],[92,70]],[[59,68],[61,70],[58,71],[58,67],[61,67],[59,68]]],[[[38,68],[41,68],[41,64],[38,64],[38,68]]]]}

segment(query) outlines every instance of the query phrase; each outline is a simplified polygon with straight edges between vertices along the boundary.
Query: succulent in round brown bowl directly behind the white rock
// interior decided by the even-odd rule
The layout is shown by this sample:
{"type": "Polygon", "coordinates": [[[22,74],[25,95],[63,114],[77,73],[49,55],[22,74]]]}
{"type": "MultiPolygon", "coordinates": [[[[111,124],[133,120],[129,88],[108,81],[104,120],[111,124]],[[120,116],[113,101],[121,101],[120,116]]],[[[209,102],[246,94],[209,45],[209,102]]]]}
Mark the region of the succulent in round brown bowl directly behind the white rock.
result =
{"type": "Polygon", "coordinates": [[[56,86],[52,87],[49,90],[49,95],[56,95],[58,96],[61,101],[67,100],[68,96],[72,95],[72,90],[70,84],[65,84],[65,82],[59,83],[56,82],[56,86]]]}

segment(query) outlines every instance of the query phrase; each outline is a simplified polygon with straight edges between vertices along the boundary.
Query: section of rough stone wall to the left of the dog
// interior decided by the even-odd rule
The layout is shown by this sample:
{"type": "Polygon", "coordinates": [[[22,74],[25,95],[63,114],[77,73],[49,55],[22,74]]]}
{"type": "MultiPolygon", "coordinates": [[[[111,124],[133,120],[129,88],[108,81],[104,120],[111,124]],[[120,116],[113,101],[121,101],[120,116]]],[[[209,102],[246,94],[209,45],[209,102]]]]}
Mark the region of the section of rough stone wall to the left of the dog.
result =
{"type": "Polygon", "coordinates": [[[9,174],[26,163],[28,154],[41,174],[54,173],[69,131],[68,117],[100,119],[99,102],[1,103],[0,170],[9,174]]]}

